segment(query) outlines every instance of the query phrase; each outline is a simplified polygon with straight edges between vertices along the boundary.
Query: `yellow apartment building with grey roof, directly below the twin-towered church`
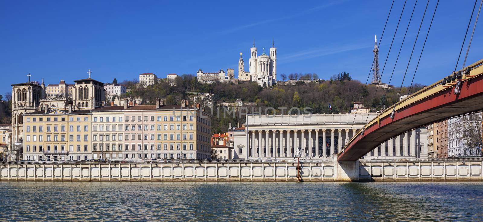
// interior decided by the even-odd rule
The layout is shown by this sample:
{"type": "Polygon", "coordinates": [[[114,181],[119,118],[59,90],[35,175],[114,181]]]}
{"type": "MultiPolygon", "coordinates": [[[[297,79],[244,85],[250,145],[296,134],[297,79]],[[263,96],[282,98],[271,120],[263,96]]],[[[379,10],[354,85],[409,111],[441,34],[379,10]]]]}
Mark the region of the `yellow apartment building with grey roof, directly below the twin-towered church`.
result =
{"type": "Polygon", "coordinates": [[[24,114],[23,122],[23,160],[91,158],[89,110],[36,111],[24,114]]]}

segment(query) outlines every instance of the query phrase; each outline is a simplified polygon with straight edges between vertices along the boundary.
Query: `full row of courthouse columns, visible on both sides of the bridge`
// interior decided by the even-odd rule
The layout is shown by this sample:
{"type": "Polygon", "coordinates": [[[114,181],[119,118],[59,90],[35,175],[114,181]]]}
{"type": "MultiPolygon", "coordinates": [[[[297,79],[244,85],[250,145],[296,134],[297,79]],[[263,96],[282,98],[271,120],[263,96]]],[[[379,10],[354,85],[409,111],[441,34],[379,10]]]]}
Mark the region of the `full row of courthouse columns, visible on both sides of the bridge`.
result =
{"type": "MultiPolygon", "coordinates": [[[[249,130],[248,158],[333,158],[353,137],[358,129],[288,129],[249,130]]],[[[420,158],[426,155],[419,131],[412,130],[383,142],[366,157],[420,158]]]]}

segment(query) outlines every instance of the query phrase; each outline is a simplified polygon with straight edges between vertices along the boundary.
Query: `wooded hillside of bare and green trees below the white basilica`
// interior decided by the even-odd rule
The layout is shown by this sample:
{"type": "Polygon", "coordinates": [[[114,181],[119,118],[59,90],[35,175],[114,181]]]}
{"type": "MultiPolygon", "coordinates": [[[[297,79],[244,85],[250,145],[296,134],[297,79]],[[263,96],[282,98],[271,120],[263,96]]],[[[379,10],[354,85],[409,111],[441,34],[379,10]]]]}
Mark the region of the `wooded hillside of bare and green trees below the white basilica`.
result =
{"type": "MultiPolygon", "coordinates": [[[[301,110],[305,107],[312,108],[312,113],[339,113],[348,112],[354,102],[364,102],[371,111],[380,111],[399,100],[399,87],[394,89],[382,89],[375,85],[367,85],[358,80],[353,80],[348,72],[341,72],[330,77],[330,80],[321,82],[304,83],[303,80],[318,79],[317,74],[306,73],[289,75],[290,80],[297,80],[295,85],[277,85],[272,88],[262,88],[255,82],[222,83],[211,84],[199,83],[194,75],[183,74],[176,78],[175,84],[161,81],[152,86],[140,86],[136,80],[123,81],[120,84],[127,85],[130,92],[128,96],[141,97],[143,104],[150,104],[156,97],[166,98],[167,104],[181,104],[184,99],[189,99],[192,92],[213,93],[215,102],[234,102],[242,99],[243,102],[255,102],[254,108],[263,111],[268,107],[275,109],[279,107],[298,107],[301,110]],[[377,90],[377,93],[376,93],[377,90]],[[332,109],[329,109],[330,103],[332,109]]],[[[416,92],[424,86],[413,84],[411,92],[416,92]]],[[[408,94],[410,87],[402,87],[401,95],[408,94]]],[[[192,102],[192,101],[190,101],[192,102]]],[[[205,107],[209,112],[209,108],[205,107]]],[[[271,110],[268,110],[271,114],[271,110]]],[[[244,123],[244,117],[238,115],[218,117],[216,105],[213,107],[213,133],[226,132],[228,125],[244,123]]],[[[280,114],[277,111],[276,114],[280,114]]]]}

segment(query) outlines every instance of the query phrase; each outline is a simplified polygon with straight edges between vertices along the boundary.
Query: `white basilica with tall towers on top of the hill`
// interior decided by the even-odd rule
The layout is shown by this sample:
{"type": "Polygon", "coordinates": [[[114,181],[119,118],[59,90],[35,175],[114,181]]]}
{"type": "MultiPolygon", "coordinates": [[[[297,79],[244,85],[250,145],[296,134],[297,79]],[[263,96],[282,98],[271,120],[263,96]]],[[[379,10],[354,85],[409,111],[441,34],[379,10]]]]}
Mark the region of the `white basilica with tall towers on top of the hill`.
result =
{"type": "Polygon", "coordinates": [[[250,48],[250,53],[248,72],[245,71],[245,63],[242,53],[240,53],[238,80],[253,81],[263,87],[275,85],[277,83],[277,48],[275,48],[275,44],[272,43],[270,55],[265,54],[265,48],[263,48],[262,55],[258,56],[254,41],[253,47],[250,48]]]}

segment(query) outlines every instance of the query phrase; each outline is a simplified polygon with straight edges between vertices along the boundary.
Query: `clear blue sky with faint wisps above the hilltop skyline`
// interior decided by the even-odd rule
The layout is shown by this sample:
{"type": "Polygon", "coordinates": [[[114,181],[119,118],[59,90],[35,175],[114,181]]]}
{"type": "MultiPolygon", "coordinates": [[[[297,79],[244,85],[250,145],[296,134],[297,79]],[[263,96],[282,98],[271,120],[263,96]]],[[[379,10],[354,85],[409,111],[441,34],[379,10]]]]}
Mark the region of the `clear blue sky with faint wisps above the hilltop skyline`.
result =
{"type": "MultiPolygon", "coordinates": [[[[114,77],[137,78],[143,72],[165,77],[195,74],[198,69],[237,70],[240,52],[248,61],[254,38],[259,55],[275,39],[278,74],[317,73],[328,79],[347,71],[365,82],[374,34],[380,38],[391,2],[2,0],[0,94],[11,91],[12,83],[27,82],[28,73],[33,80],[55,84],[86,78],[88,69],[94,79],[106,83],[114,77]]],[[[394,68],[414,2],[407,1],[383,82],[394,68]]],[[[391,84],[401,83],[426,2],[417,2],[391,84]]],[[[381,70],[403,3],[396,0],[389,18],[380,46],[381,70]]],[[[451,74],[473,4],[440,1],[414,82],[430,84],[451,74]]],[[[435,5],[436,0],[430,0],[408,70],[411,77],[435,5]]],[[[467,64],[483,57],[482,26],[480,21],[467,64]]],[[[472,28],[473,23],[469,32],[472,28]]],[[[464,55],[458,69],[463,59],[464,55]]]]}

